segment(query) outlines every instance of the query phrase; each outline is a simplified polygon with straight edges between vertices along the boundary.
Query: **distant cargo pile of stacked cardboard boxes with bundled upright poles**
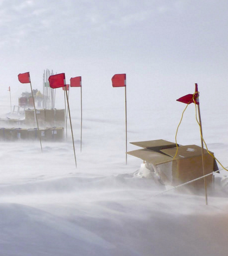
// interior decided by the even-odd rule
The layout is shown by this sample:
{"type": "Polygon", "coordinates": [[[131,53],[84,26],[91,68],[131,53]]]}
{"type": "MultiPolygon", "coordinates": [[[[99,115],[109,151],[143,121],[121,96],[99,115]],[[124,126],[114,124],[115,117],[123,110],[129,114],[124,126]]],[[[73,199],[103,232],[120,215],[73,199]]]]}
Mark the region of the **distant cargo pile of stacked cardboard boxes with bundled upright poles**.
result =
{"type": "Polygon", "coordinates": [[[18,97],[18,106],[11,107],[11,112],[0,118],[0,140],[34,140],[39,136],[42,141],[64,139],[66,109],[55,108],[55,90],[49,87],[48,82],[51,74],[53,71],[44,71],[42,93],[37,89],[23,92],[18,97]]]}

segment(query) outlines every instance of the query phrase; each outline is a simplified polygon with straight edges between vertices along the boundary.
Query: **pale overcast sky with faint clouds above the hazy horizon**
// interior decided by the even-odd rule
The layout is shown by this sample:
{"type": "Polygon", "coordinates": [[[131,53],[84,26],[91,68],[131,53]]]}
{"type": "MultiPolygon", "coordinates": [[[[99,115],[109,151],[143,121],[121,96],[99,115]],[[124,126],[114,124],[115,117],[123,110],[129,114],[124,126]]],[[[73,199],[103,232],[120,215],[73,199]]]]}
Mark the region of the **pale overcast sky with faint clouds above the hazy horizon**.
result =
{"type": "Polygon", "coordinates": [[[0,0],[0,86],[22,86],[17,75],[29,71],[42,88],[53,69],[91,91],[126,73],[141,98],[179,97],[195,82],[225,90],[227,13],[227,0],[0,0]]]}

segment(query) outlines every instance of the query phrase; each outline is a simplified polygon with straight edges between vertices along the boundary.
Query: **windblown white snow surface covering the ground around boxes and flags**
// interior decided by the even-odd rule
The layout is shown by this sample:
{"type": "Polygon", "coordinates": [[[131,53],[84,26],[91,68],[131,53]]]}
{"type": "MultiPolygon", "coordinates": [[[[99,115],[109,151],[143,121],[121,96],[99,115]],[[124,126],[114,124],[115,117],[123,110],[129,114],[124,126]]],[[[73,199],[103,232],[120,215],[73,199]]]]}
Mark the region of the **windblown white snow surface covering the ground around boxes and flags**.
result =
{"type": "MultiPolygon", "coordinates": [[[[216,174],[208,205],[204,192],[158,194],[167,187],[141,175],[140,159],[125,164],[124,102],[95,102],[84,106],[81,152],[80,103],[71,102],[77,168],[69,124],[67,141],[42,142],[43,153],[39,141],[1,142],[0,255],[228,255],[227,172],[216,174]]],[[[131,102],[128,142],[175,141],[185,105],[131,102]]],[[[186,115],[178,142],[200,145],[193,105],[186,115]]],[[[208,148],[227,166],[225,109],[201,115],[208,148]]]]}

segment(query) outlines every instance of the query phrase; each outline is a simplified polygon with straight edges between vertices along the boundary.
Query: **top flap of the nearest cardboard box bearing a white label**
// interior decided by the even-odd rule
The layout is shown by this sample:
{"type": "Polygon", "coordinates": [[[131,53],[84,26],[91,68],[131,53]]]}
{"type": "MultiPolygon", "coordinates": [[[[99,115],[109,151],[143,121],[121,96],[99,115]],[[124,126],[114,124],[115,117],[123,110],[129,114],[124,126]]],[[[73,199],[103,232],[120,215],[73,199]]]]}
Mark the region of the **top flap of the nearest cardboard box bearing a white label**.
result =
{"type": "MultiPolygon", "coordinates": [[[[174,157],[176,154],[176,148],[162,149],[161,152],[168,156],[174,157]]],[[[204,149],[204,154],[208,154],[206,149],[204,149]]],[[[193,156],[201,156],[201,147],[197,145],[185,145],[178,147],[178,155],[175,157],[175,159],[183,159],[193,156]]]]}

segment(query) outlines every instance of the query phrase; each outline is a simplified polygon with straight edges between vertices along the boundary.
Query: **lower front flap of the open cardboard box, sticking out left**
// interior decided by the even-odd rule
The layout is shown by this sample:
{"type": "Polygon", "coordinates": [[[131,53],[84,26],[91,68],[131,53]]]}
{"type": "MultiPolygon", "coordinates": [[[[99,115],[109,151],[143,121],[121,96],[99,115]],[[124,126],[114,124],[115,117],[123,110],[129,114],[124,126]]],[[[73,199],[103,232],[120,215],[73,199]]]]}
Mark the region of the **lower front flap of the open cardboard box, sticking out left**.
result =
{"type": "Polygon", "coordinates": [[[129,155],[136,156],[142,160],[145,160],[149,163],[160,164],[164,162],[173,161],[173,158],[150,149],[138,149],[128,152],[129,155]]]}

